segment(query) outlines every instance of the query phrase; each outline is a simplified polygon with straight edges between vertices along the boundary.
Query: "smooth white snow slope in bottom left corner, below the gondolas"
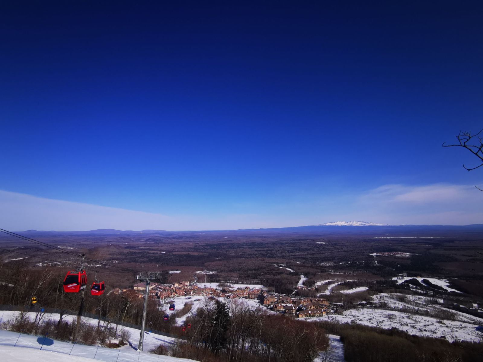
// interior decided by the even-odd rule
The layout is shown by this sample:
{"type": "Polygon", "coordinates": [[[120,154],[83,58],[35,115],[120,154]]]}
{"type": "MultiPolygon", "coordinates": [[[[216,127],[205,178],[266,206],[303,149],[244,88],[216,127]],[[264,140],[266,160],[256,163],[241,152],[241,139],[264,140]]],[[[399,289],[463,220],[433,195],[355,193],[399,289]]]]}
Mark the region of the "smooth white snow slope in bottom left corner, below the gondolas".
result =
{"type": "MultiPolygon", "coordinates": [[[[14,318],[14,316],[18,315],[18,313],[19,312],[15,312],[15,311],[0,311],[1,323],[4,323],[9,319],[14,318]]],[[[28,316],[31,319],[33,319],[35,318],[35,313],[29,312],[28,316]]],[[[53,319],[53,320],[58,320],[58,318],[59,318],[59,315],[56,313],[46,313],[43,317],[43,319],[53,319]]],[[[77,316],[67,316],[64,318],[64,320],[74,320],[76,318],[77,316]]],[[[82,319],[91,324],[97,325],[98,323],[97,319],[86,318],[86,317],[83,317],[82,319]]],[[[105,322],[101,321],[101,325],[105,325],[105,324],[106,324],[105,322]]],[[[164,346],[170,346],[176,342],[176,338],[165,337],[163,335],[145,332],[144,348],[143,348],[144,352],[140,353],[137,350],[137,347],[139,344],[140,330],[135,328],[119,326],[117,333],[120,333],[123,330],[126,330],[129,333],[131,333],[131,337],[129,338],[129,344],[126,346],[122,346],[120,348],[113,349],[113,348],[102,348],[98,346],[84,346],[84,345],[78,345],[78,344],[71,344],[68,342],[60,342],[60,341],[47,338],[45,339],[45,343],[44,343],[44,346],[42,347],[42,351],[39,350],[39,353],[43,351],[54,351],[54,352],[63,353],[62,354],[63,359],[61,362],[71,361],[68,359],[70,357],[65,355],[69,353],[71,353],[71,356],[81,356],[89,359],[94,358],[95,356],[96,360],[106,361],[106,362],[114,362],[116,360],[118,362],[131,362],[131,361],[137,361],[138,357],[140,362],[156,362],[158,358],[157,355],[153,355],[147,352],[150,349],[159,346],[160,344],[164,346]]],[[[19,334],[19,333],[14,333],[10,331],[0,330],[0,356],[3,356],[1,352],[2,348],[4,348],[4,346],[14,346],[17,338],[18,338],[18,342],[16,343],[15,350],[17,348],[20,350],[22,349],[22,347],[34,349],[34,350],[40,349],[42,346],[42,343],[44,342],[43,336],[39,337],[39,336],[34,336],[29,334],[23,334],[23,333],[19,334]]],[[[9,353],[9,352],[5,350],[5,353],[9,353]]],[[[18,355],[20,356],[22,353],[23,352],[19,352],[18,355]]],[[[37,359],[39,361],[56,361],[56,360],[51,360],[50,357],[47,357],[47,356],[39,357],[37,359]]],[[[11,360],[4,360],[4,359],[0,359],[0,360],[11,361],[11,360]]],[[[23,362],[23,361],[31,361],[31,360],[19,359],[18,361],[23,362]]],[[[80,362],[84,360],[72,360],[72,362],[74,361],[80,362]]],[[[192,361],[192,360],[173,358],[169,356],[159,356],[159,361],[171,362],[171,361],[192,361]]]]}

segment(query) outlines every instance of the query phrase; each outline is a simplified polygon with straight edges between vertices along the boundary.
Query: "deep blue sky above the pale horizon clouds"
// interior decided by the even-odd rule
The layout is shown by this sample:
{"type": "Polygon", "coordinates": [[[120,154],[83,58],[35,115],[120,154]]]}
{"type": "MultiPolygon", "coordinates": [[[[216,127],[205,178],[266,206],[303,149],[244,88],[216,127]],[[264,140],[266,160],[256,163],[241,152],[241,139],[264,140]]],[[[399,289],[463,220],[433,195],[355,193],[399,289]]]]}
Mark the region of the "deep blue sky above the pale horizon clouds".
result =
{"type": "MultiPolygon", "coordinates": [[[[482,216],[360,204],[481,184],[440,147],[483,128],[481,2],[174,3],[0,5],[0,190],[175,229],[482,216]]],[[[15,230],[112,226],[48,224],[20,199],[15,230]]]]}

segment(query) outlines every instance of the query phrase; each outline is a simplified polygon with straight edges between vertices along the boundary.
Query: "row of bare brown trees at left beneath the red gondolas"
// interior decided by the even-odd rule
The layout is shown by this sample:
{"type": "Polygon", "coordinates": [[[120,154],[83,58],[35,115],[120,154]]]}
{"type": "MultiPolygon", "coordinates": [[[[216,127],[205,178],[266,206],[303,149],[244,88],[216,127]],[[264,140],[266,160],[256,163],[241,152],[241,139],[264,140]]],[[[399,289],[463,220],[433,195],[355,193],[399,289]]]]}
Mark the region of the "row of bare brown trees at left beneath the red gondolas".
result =
{"type": "MultiPolygon", "coordinates": [[[[66,315],[78,312],[81,293],[65,293],[63,290],[66,270],[58,267],[29,268],[19,261],[1,263],[0,266],[0,304],[23,306],[29,311],[55,308],[59,313],[57,326],[66,315]],[[37,303],[33,305],[31,300],[34,296],[37,303]]],[[[91,296],[87,288],[84,300],[84,312],[98,317],[99,322],[100,319],[111,321],[116,333],[119,323],[141,324],[143,300],[133,290],[120,293],[108,285],[102,296],[91,296]]],[[[147,326],[170,332],[175,329],[172,327],[173,320],[164,321],[164,311],[159,306],[158,301],[149,300],[147,326]]]]}

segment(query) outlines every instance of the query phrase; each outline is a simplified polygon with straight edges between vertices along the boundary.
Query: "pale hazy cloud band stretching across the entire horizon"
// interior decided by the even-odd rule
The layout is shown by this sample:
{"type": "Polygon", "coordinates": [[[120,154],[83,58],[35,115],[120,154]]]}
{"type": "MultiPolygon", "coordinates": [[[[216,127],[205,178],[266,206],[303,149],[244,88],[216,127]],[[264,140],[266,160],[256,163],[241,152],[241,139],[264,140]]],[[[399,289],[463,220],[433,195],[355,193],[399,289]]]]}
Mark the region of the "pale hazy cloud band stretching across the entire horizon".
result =
{"type": "MultiPolygon", "coordinates": [[[[362,194],[322,195],[321,203],[280,204],[245,213],[164,215],[0,190],[1,227],[36,230],[226,230],[313,225],[337,220],[385,224],[483,223],[483,193],[469,185],[383,185],[362,194]]],[[[247,207],[248,208],[248,207],[247,207]]],[[[169,213],[167,213],[169,214],[169,213]]]]}

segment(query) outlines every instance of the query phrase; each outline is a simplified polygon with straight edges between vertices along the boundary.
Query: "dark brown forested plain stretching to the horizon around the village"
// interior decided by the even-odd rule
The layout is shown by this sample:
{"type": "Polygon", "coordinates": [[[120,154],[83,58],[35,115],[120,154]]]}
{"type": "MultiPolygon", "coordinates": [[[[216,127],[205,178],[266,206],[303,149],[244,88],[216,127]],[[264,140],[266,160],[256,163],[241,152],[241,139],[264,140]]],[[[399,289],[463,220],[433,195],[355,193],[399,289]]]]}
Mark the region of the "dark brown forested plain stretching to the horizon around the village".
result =
{"type": "MultiPolygon", "coordinates": [[[[100,313],[113,325],[116,321],[141,323],[142,298],[130,288],[137,282],[136,275],[146,271],[160,272],[159,283],[193,282],[198,278],[200,282],[260,284],[269,292],[275,289],[277,293],[300,296],[324,292],[327,285],[315,284],[341,273],[351,281],[341,282],[333,293],[325,296],[334,303],[334,313],[354,308],[361,302],[370,303],[377,293],[414,294],[410,284],[398,285],[391,280],[402,273],[409,277],[446,278],[453,288],[462,292],[458,295],[462,301],[481,303],[483,263],[479,252],[483,248],[483,232],[440,230],[436,231],[438,235],[434,232],[426,232],[426,237],[413,232],[412,238],[403,238],[405,235],[401,233],[397,235],[401,238],[381,238],[381,232],[359,234],[353,230],[28,234],[35,240],[60,247],[58,250],[3,236],[0,238],[3,260],[0,304],[30,308],[31,297],[35,295],[43,307],[76,311],[79,298],[64,293],[62,281],[68,270],[79,265],[80,259],[75,255],[81,254],[110,265],[86,262],[88,280],[91,282],[97,271],[98,278],[106,283],[106,293],[98,299],[85,298],[85,311],[100,313]],[[375,262],[371,255],[390,252],[404,252],[409,256],[385,255],[375,262]],[[216,273],[197,273],[204,270],[216,273]],[[170,274],[170,271],[180,273],[170,274]],[[304,288],[297,289],[300,275],[307,280],[304,288]],[[367,290],[354,294],[337,292],[359,286],[367,290]],[[112,290],[126,291],[110,293],[112,290]]],[[[434,298],[448,294],[431,284],[425,284],[423,289],[434,298]]],[[[157,300],[149,301],[147,322],[151,328],[181,335],[173,319],[163,320],[159,306],[157,300]]],[[[173,350],[160,348],[158,352],[200,361],[312,361],[317,351],[327,348],[327,332],[341,335],[347,361],[480,361],[483,357],[481,344],[477,343],[450,343],[440,338],[423,338],[359,324],[300,321],[289,316],[268,315],[263,307],[256,311],[240,308],[228,314],[221,313],[220,308],[211,303],[190,311],[187,320],[197,328],[184,334],[185,342],[173,350]],[[226,316],[222,330],[213,330],[212,320],[216,315],[226,316]]],[[[62,325],[61,318],[57,327],[62,325]]],[[[63,338],[72,338],[70,333],[66,332],[63,338]]]]}

